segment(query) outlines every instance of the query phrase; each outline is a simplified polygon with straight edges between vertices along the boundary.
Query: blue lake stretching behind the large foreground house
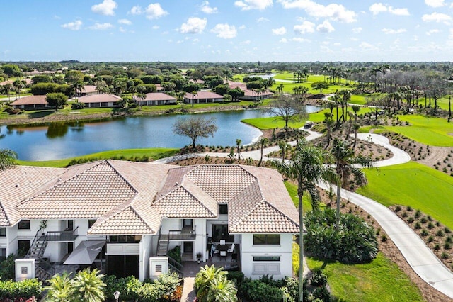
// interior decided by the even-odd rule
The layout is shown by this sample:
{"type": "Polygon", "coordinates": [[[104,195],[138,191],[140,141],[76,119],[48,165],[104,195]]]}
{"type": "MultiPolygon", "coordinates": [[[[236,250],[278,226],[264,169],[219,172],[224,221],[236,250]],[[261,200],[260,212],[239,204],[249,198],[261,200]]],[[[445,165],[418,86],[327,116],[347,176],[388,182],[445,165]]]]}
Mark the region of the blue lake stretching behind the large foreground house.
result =
{"type": "MultiPolygon", "coordinates": [[[[307,112],[319,110],[307,106],[307,112]]],[[[202,145],[243,145],[258,140],[261,131],[241,123],[244,118],[265,116],[260,110],[199,113],[216,119],[214,137],[198,139],[202,145]]],[[[105,150],[151,147],[180,148],[190,138],[175,135],[172,127],[178,118],[189,115],[139,116],[109,121],[78,121],[45,125],[0,126],[0,148],[14,150],[19,160],[59,160],[105,150]]]]}

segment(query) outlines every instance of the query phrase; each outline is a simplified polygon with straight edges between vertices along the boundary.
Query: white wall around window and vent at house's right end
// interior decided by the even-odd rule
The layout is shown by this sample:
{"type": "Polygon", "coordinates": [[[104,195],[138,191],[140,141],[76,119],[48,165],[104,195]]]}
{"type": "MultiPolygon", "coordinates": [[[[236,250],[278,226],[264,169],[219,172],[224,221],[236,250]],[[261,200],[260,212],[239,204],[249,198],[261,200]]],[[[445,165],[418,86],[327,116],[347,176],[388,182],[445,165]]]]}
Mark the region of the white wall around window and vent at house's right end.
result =
{"type": "Polygon", "coordinates": [[[280,274],[274,274],[274,279],[292,276],[292,234],[281,234],[280,245],[253,245],[253,234],[243,234],[241,237],[241,269],[243,274],[258,279],[261,274],[253,274],[253,264],[280,264],[280,274]],[[254,256],[278,256],[280,262],[253,262],[254,256]]]}

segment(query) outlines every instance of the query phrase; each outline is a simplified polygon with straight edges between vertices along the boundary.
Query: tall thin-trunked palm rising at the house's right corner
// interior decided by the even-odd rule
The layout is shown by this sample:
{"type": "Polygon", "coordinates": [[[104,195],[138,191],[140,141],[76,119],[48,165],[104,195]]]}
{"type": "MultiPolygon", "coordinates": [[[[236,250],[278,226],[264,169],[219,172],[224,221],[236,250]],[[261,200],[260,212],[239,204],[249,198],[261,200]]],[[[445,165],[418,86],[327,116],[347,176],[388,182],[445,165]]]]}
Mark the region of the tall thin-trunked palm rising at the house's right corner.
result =
{"type": "Polygon", "coordinates": [[[297,196],[299,198],[299,302],[304,301],[303,279],[304,276],[304,211],[302,196],[308,193],[311,206],[318,208],[319,191],[316,183],[333,179],[333,172],[324,165],[328,154],[323,150],[307,145],[306,140],[301,140],[297,145],[292,158],[288,162],[273,161],[273,166],[288,179],[297,181],[297,196]]]}

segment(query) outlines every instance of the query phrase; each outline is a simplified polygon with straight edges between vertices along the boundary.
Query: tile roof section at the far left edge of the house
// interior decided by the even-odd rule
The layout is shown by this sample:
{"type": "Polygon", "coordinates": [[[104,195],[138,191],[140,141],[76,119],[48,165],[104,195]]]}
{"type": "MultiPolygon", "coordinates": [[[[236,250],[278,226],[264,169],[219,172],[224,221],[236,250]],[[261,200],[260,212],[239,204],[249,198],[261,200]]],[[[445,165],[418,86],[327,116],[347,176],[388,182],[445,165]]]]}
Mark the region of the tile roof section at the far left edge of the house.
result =
{"type": "Polygon", "coordinates": [[[0,226],[21,220],[16,205],[67,169],[15,166],[0,171],[0,226]]]}

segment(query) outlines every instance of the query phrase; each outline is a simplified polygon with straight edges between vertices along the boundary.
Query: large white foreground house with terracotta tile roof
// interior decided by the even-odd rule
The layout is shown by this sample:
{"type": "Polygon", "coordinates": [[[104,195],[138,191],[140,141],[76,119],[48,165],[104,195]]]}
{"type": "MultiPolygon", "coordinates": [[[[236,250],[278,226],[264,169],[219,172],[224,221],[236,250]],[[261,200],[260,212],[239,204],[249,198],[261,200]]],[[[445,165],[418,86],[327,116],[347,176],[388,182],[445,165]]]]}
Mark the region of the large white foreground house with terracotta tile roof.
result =
{"type": "Polygon", "coordinates": [[[216,251],[234,244],[226,259],[246,276],[292,276],[299,217],[274,169],[117,160],[16,166],[0,172],[0,203],[0,255],[30,249],[41,279],[53,273],[45,274],[42,258],[90,265],[97,256],[107,274],[144,280],[159,275],[159,265],[165,272],[168,249],[180,246],[184,261],[197,261],[198,252],[214,261],[221,255],[210,251],[222,240],[216,251]]]}

